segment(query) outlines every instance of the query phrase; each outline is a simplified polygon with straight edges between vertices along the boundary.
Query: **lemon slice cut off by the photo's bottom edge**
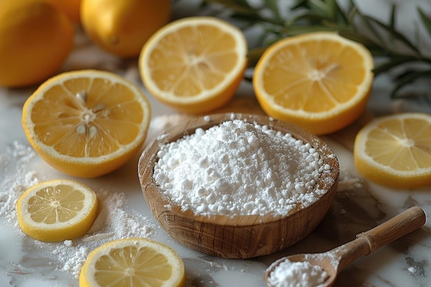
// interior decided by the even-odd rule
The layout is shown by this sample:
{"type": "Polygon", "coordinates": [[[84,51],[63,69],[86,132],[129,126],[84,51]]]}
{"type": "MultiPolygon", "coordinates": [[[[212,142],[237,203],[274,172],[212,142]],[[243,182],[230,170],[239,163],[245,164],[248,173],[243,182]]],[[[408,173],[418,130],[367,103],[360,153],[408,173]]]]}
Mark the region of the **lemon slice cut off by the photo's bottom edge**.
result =
{"type": "Polygon", "coordinates": [[[115,240],[90,253],[79,286],[180,287],[185,286],[185,268],[165,244],[145,238],[115,240]]]}

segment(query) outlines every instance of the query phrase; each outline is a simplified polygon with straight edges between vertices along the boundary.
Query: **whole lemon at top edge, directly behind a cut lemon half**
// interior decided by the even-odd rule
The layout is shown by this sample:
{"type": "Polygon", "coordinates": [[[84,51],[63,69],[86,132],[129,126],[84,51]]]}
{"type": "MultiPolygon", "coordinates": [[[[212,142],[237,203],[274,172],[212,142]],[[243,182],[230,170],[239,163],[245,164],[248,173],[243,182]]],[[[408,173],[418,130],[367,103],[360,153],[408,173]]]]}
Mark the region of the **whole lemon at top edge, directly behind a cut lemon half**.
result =
{"type": "Polygon", "coordinates": [[[169,22],[171,0],[82,0],[81,24],[107,52],[138,56],[144,43],[169,22]]]}

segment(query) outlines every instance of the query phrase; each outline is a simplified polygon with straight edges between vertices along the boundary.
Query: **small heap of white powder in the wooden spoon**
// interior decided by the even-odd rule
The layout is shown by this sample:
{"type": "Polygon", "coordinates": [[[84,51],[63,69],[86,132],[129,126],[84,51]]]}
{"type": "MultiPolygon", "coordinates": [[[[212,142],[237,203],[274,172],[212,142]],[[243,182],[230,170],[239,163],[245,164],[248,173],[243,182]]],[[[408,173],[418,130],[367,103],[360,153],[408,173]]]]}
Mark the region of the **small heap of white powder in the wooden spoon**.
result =
{"type": "Polygon", "coordinates": [[[273,287],[319,287],[327,277],[328,273],[320,266],[286,259],[269,274],[268,281],[273,287]]]}

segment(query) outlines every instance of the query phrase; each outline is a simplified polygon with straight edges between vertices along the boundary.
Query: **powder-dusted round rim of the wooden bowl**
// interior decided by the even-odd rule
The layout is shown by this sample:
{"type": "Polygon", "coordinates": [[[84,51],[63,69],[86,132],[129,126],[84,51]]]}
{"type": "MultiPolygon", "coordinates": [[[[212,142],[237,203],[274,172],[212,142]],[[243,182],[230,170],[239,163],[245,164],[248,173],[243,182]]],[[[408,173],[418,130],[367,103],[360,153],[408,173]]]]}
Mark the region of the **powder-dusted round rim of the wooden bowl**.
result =
{"type": "Polygon", "coordinates": [[[176,125],[162,131],[160,136],[151,140],[141,153],[138,160],[138,178],[145,200],[153,214],[154,211],[152,210],[149,201],[154,202],[154,200],[160,200],[160,202],[165,206],[170,206],[169,211],[172,213],[175,213],[178,216],[187,217],[189,220],[193,220],[195,222],[214,223],[224,226],[253,226],[256,224],[282,220],[295,213],[312,208],[322,198],[332,196],[330,193],[334,193],[335,195],[339,181],[339,161],[333,150],[330,149],[324,140],[297,125],[259,114],[227,112],[222,114],[210,114],[207,116],[193,116],[193,118],[185,120],[184,123],[176,123],[176,125]],[[176,204],[176,202],[172,202],[166,195],[160,192],[153,177],[154,164],[158,159],[157,151],[159,150],[160,145],[165,145],[167,142],[173,142],[185,135],[193,134],[198,127],[208,129],[214,125],[220,125],[221,123],[235,119],[246,120],[248,123],[257,123],[258,125],[267,125],[270,129],[282,131],[284,134],[291,133],[294,138],[310,143],[310,145],[319,152],[324,164],[330,164],[331,167],[331,169],[325,171],[324,178],[322,178],[322,174],[319,176],[319,180],[317,181],[315,188],[313,188],[313,192],[317,189],[324,190],[321,194],[316,193],[317,200],[308,204],[308,206],[298,205],[294,209],[288,211],[286,215],[273,215],[269,213],[266,215],[238,215],[232,217],[229,215],[216,214],[196,215],[191,209],[182,211],[181,206],[176,204]],[[331,180],[326,180],[327,178],[330,178],[331,180]],[[159,191],[158,194],[154,192],[155,190],[159,191]]]}

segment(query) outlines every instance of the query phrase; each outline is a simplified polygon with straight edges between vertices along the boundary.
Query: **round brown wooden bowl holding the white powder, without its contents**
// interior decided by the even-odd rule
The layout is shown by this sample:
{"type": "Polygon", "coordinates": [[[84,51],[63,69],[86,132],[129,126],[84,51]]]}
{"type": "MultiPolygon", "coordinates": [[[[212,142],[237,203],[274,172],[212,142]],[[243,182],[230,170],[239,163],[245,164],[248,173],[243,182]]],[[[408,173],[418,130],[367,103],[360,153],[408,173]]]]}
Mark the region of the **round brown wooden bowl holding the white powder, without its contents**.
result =
{"type": "Polygon", "coordinates": [[[196,117],[167,129],[147,145],[140,156],[138,174],[143,194],[151,213],[160,225],[175,240],[202,253],[225,258],[250,258],[269,255],[304,239],[322,221],[337,191],[339,162],[325,142],[295,125],[254,114],[215,114],[196,117]],[[313,204],[295,209],[282,216],[241,215],[195,215],[193,211],[182,211],[181,206],[171,202],[159,191],[153,178],[156,154],[160,145],[173,142],[185,134],[193,134],[197,127],[208,129],[234,118],[246,119],[249,123],[268,125],[284,134],[310,143],[330,169],[320,176],[315,189],[326,191],[313,204]],[[167,206],[171,206],[167,208],[167,206]]]}

